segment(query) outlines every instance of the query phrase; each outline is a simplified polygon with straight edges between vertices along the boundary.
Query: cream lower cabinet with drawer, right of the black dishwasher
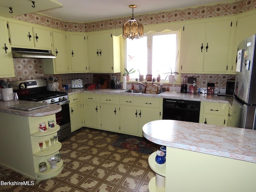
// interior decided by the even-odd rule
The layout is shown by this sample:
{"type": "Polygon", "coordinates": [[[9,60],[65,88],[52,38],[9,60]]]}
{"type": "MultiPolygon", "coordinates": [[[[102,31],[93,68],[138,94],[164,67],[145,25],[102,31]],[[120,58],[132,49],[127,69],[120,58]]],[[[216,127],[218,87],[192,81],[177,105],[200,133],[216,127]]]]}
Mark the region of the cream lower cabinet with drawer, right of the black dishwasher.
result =
{"type": "Polygon", "coordinates": [[[199,123],[227,126],[228,104],[201,102],[199,123]]]}

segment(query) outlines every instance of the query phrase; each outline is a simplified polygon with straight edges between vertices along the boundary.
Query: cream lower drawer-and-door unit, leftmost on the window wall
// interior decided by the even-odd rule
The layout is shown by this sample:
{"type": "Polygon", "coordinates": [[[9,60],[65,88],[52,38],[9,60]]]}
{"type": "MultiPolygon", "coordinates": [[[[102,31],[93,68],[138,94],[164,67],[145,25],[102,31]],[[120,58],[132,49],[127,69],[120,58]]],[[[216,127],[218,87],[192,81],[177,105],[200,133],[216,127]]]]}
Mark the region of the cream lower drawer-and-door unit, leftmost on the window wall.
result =
{"type": "Polygon", "coordinates": [[[82,94],[84,126],[100,128],[100,103],[98,94],[82,94]]]}

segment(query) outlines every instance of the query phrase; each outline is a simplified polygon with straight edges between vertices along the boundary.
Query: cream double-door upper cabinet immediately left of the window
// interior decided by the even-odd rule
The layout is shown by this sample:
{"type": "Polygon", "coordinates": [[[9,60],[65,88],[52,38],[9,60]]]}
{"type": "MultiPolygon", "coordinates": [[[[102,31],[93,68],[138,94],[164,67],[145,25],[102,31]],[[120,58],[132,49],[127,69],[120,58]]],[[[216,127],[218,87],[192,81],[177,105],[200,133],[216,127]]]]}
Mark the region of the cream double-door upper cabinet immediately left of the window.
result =
{"type": "Polygon", "coordinates": [[[120,72],[120,37],[111,32],[97,32],[87,36],[90,72],[120,72]]]}

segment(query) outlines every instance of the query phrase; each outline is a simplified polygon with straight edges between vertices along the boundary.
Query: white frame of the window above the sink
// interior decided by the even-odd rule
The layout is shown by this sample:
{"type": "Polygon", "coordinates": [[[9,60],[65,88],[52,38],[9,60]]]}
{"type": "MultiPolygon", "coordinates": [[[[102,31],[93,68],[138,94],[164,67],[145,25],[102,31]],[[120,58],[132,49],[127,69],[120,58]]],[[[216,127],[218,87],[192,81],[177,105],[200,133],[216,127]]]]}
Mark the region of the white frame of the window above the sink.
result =
{"type": "MultiPolygon", "coordinates": [[[[152,47],[152,36],[154,35],[164,35],[164,34],[176,34],[176,56],[177,57],[177,61],[175,64],[175,68],[172,72],[178,72],[178,63],[179,63],[179,50],[180,50],[180,31],[171,31],[171,30],[164,30],[162,32],[154,32],[154,31],[150,31],[146,34],[144,34],[144,36],[148,37],[148,62],[147,62],[147,74],[152,74],[152,49],[150,47],[152,47]]],[[[134,39],[134,41],[136,41],[136,39],[134,39]]],[[[166,53],[163,53],[166,54],[166,53]]],[[[127,69],[127,50],[126,50],[126,39],[124,39],[124,68],[127,69]]],[[[128,69],[130,70],[130,69],[128,69]]],[[[137,70],[137,69],[134,69],[137,70]]],[[[122,74],[121,74],[122,75],[122,74]]],[[[146,75],[146,74],[144,74],[146,75]]],[[[161,80],[164,80],[164,78],[167,76],[166,75],[162,75],[161,76],[161,80]]],[[[144,77],[145,78],[145,77],[144,77]]]]}

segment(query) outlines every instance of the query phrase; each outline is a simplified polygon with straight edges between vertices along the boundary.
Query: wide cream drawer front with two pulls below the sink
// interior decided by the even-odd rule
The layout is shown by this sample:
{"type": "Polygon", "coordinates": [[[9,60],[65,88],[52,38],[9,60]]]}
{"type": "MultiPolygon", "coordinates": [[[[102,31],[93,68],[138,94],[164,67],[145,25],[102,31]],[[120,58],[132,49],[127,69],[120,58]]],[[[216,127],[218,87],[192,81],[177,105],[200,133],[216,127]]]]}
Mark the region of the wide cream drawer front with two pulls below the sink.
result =
{"type": "Polygon", "coordinates": [[[157,98],[145,99],[145,98],[121,97],[120,105],[160,108],[160,100],[157,98]]]}

